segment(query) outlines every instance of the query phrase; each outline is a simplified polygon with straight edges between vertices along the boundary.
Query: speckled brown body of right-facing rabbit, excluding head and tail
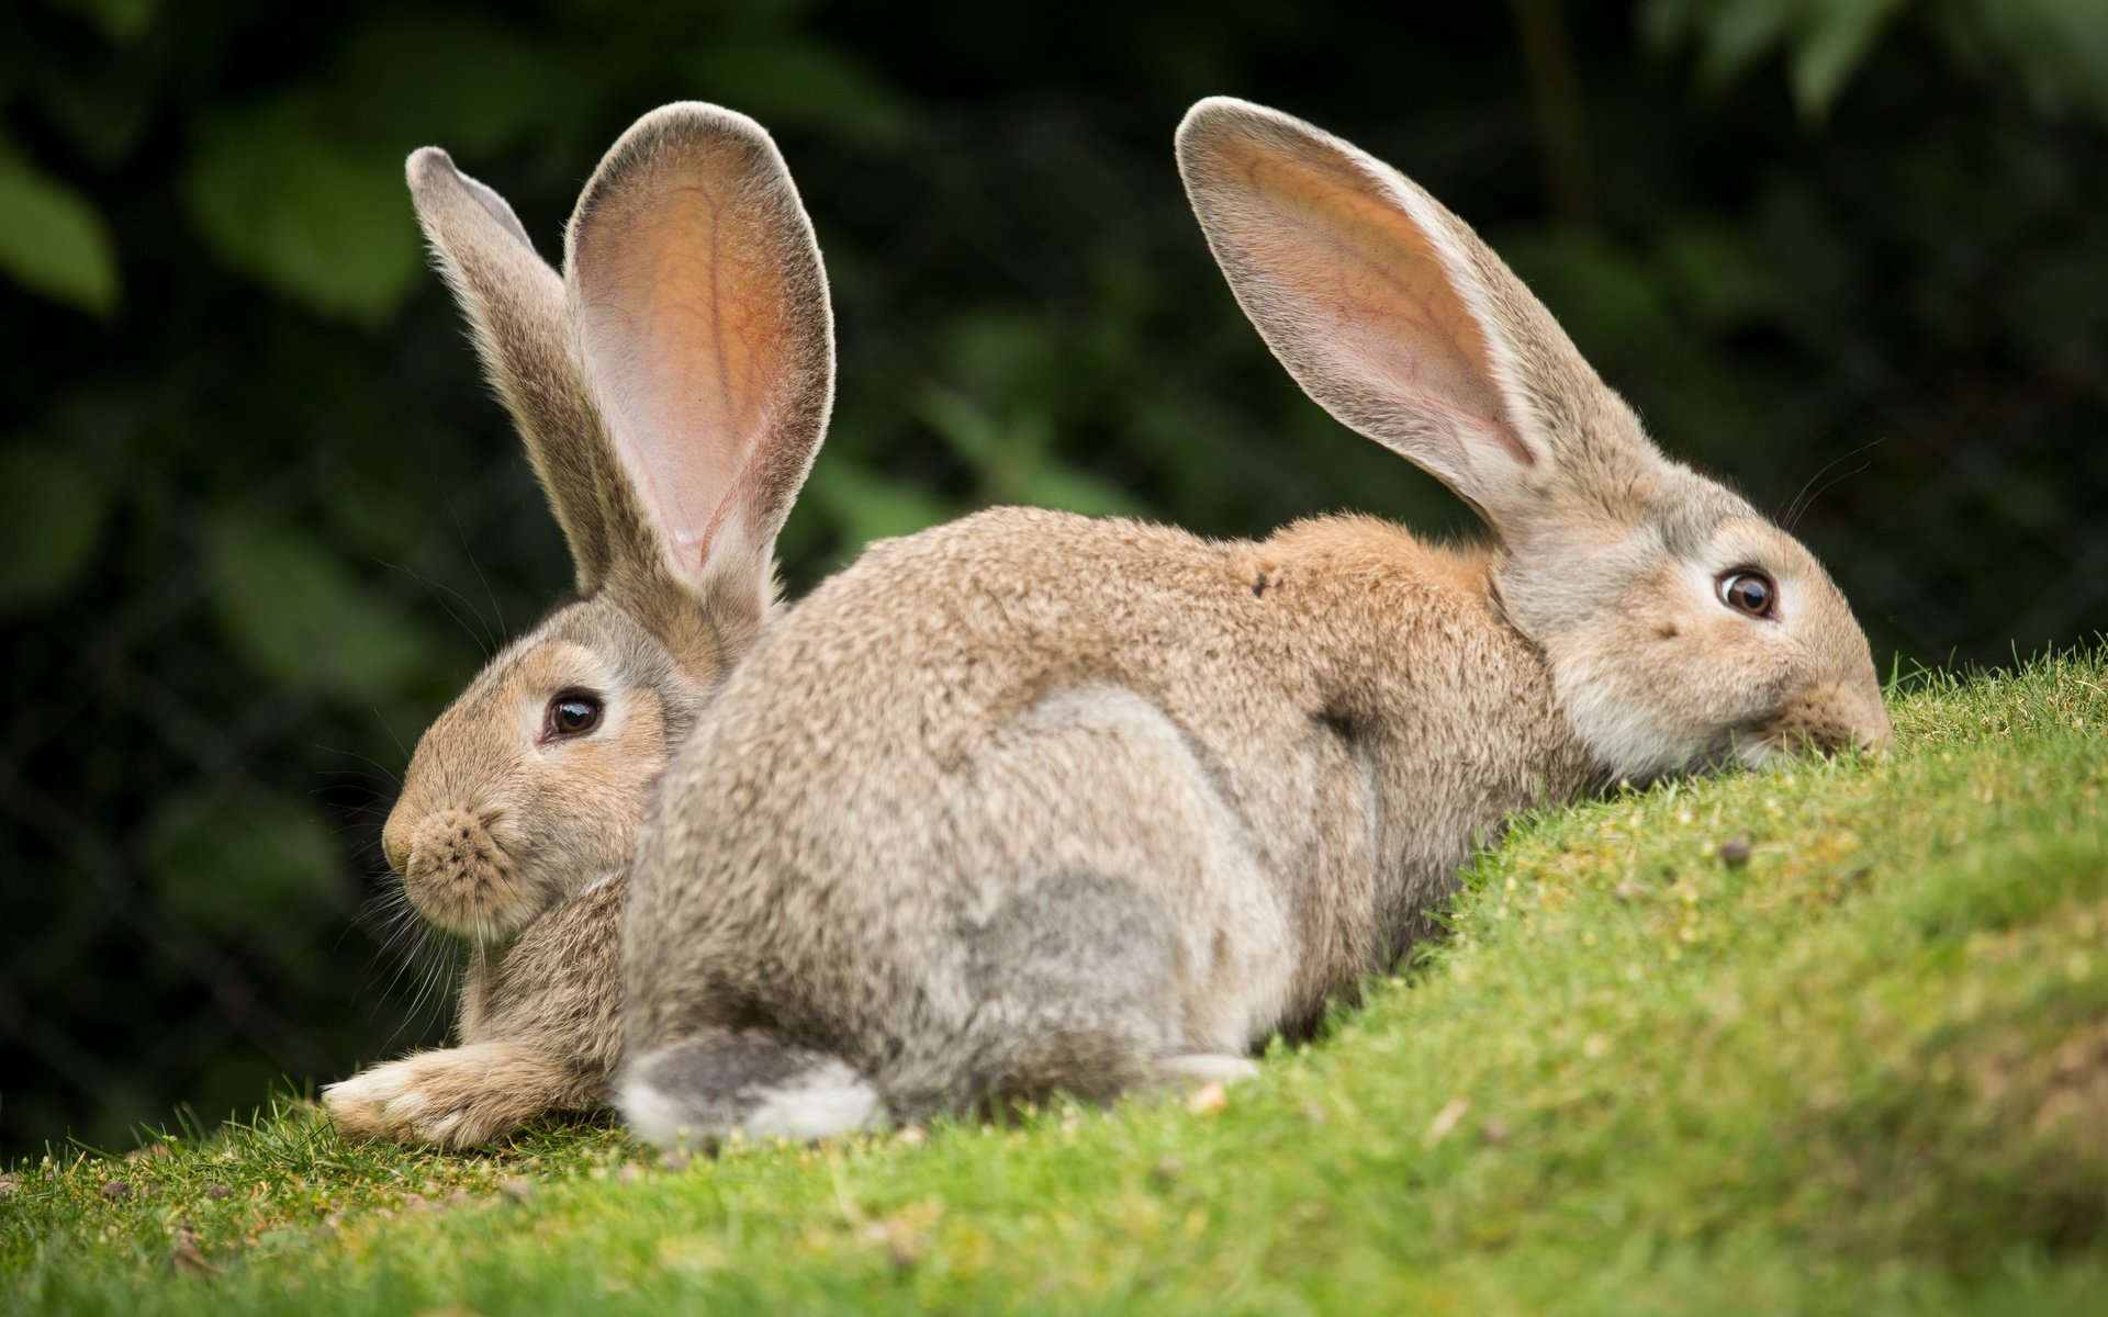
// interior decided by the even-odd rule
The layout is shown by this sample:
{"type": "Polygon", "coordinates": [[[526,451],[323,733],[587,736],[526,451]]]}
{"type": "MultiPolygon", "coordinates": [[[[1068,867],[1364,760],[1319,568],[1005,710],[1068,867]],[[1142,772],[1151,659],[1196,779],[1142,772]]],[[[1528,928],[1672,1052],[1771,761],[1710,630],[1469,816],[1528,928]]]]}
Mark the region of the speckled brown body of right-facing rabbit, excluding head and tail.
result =
{"type": "Polygon", "coordinates": [[[1484,556],[1383,523],[875,546],[662,780],[630,1045],[769,1020],[896,1110],[1029,1096],[1035,1051],[1242,1051],[1410,940],[1545,765],[1579,782],[1560,727],[1484,556]]]}

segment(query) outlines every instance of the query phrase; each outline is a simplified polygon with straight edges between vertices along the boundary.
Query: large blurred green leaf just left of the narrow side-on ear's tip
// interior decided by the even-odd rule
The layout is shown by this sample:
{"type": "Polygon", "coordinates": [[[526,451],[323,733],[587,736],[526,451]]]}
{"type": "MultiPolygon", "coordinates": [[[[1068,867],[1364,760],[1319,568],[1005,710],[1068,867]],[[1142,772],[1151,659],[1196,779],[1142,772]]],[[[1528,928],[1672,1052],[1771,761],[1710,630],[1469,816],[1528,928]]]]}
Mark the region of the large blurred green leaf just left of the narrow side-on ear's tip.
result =
{"type": "Polygon", "coordinates": [[[339,145],[320,118],[280,101],[209,122],[183,202],[234,270],[323,316],[375,325],[422,266],[403,160],[339,145]]]}

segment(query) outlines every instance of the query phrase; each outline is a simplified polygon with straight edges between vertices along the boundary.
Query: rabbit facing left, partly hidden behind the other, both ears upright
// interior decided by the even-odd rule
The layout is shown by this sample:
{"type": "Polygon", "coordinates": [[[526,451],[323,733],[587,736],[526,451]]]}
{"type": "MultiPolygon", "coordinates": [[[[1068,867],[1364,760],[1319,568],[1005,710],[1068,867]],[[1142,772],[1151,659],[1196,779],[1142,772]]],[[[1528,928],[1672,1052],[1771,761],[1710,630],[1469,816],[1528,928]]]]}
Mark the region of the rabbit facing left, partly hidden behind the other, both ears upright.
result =
{"type": "Polygon", "coordinates": [[[776,533],[833,405],[833,312],[797,188],[742,114],[637,120],[578,200],[563,276],[445,152],[407,173],[578,598],[432,723],[382,832],[411,906],[474,938],[460,1045],[323,1102],[352,1138],[472,1146],[605,1104],[628,851],[672,748],[778,607],[776,533]]]}

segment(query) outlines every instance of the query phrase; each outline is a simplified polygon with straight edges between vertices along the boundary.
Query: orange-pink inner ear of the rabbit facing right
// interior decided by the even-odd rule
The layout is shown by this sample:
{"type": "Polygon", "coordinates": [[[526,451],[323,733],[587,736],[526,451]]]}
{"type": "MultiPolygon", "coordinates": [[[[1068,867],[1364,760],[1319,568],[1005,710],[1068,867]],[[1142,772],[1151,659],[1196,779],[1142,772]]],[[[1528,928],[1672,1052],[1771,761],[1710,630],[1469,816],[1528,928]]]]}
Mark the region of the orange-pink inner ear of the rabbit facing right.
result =
{"type": "Polygon", "coordinates": [[[1364,396],[1448,417],[1530,464],[1495,386],[1486,329],[1436,240],[1372,179],[1269,150],[1235,154],[1252,198],[1229,221],[1240,259],[1294,316],[1301,348],[1364,396]]]}

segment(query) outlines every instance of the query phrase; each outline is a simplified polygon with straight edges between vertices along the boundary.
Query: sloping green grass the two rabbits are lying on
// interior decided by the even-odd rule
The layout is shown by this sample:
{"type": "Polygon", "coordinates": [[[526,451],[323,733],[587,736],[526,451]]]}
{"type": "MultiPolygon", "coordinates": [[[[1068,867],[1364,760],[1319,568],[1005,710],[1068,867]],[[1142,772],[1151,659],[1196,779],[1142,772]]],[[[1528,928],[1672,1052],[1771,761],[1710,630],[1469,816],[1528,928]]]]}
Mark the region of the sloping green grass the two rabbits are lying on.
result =
{"type": "Polygon", "coordinates": [[[285,1102],[17,1165],[0,1302],[2108,1311],[2104,660],[1904,683],[1887,761],[1530,820],[1440,950],[1227,1094],[685,1165],[285,1102]]]}

